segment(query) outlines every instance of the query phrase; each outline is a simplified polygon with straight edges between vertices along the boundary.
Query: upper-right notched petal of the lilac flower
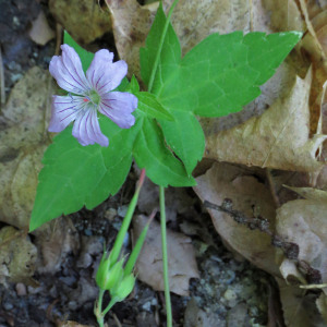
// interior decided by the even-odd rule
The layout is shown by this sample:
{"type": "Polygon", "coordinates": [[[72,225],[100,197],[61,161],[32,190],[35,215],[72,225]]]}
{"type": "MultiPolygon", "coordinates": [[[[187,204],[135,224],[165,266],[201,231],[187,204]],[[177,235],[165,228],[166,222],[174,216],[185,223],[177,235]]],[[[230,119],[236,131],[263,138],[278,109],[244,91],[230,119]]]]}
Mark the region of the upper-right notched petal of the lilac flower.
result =
{"type": "Polygon", "coordinates": [[[112,63],[113,53],[108,50],[99,50],[86,72],[90,85],[100,95],[114,89],[128,73],[128,64],[123,61],[112,63]]]}

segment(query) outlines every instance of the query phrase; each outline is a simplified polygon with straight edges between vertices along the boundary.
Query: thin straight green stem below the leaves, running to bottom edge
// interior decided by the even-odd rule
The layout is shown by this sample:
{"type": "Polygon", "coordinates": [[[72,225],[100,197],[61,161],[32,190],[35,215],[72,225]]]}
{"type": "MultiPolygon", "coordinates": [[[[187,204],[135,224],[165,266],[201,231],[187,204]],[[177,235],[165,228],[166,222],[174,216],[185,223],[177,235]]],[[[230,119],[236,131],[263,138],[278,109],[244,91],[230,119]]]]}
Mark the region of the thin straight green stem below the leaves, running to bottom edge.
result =
{"type": "Polygon", "coordinates": [[[160,191],[161,250],[162,250],[167,327],[172,327],[172,314],[171,314],[171,302],[170,302],[170,291],[169,291],[169,277],[168,277],[167,238],[166,238],[167,232],[166,232],[165,187],[159,186],[159,191],[160,191]]]}

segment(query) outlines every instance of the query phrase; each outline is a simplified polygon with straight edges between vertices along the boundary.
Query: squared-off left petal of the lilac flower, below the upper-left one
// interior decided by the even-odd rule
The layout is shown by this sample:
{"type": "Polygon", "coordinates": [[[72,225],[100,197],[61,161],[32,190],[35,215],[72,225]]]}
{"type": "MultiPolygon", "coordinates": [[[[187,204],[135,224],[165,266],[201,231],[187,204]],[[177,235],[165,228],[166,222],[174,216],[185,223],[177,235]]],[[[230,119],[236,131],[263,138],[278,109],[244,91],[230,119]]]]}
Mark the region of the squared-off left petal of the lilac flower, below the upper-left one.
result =
{"type": "Polygon", "coordinates": [[[59,133],[76,119],[83,108],[83,98],[78,96],[52,96],[49,132],[59,133]]]}

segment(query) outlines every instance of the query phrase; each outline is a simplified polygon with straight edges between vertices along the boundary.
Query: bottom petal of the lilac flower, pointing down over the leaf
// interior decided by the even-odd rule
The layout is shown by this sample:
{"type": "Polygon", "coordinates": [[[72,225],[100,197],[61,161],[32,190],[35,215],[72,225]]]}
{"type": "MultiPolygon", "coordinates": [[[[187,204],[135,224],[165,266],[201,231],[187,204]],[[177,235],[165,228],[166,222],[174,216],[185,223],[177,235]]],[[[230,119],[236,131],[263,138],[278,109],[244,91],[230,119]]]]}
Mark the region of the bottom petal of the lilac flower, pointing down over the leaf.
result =
{"type": "Polygon", "coordinates": [[[73,136],[83,145],[98,143],[101,146],[108,146],[109,140],[101,133],[97,110],[93,105],[81,111],[73,126],[73,136]]]}

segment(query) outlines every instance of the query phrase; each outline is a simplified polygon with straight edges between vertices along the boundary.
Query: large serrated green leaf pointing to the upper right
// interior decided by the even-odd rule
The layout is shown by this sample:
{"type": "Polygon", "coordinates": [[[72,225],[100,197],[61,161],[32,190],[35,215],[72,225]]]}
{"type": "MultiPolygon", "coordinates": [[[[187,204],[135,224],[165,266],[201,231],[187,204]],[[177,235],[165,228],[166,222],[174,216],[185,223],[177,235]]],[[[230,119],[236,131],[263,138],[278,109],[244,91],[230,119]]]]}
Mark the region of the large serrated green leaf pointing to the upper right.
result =
{"type": "Polygon", "coordinates": [[[259,94],[300,40],[298,32],[213,34],[190,50],[174,76],[160,76],[158,99],[170,110],[220,117],[242,110],[259,94]]]}

